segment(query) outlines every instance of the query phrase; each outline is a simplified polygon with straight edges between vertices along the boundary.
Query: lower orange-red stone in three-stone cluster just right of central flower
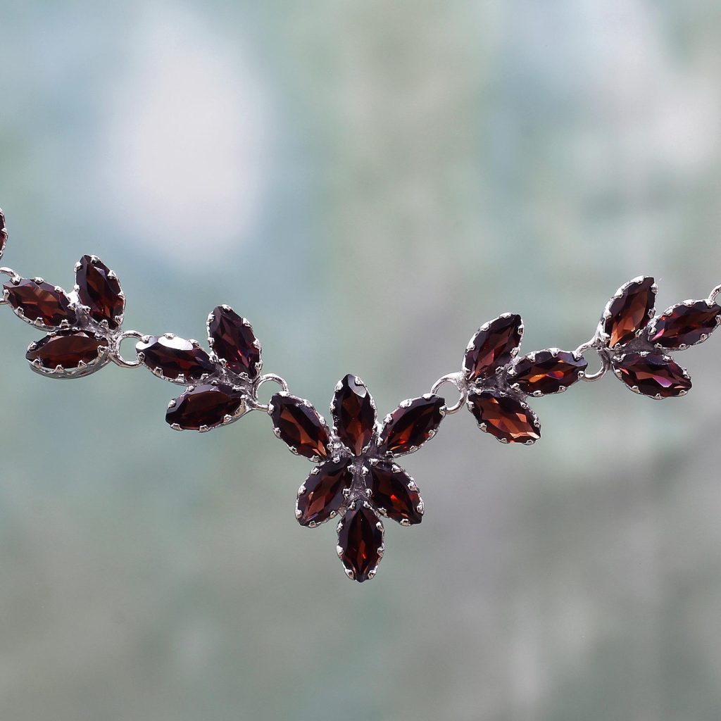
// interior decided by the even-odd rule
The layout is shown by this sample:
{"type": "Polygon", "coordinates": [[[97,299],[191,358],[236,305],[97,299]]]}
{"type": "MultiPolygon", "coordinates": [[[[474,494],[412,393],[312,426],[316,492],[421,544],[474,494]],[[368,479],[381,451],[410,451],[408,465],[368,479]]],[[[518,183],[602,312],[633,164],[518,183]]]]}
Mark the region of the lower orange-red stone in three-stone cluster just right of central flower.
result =
{"type": "Polygon", "coordinates": [[[496,390],[469,394],[468,406],[482,430],[503,443],[531,445],[541,438],[538,417],[526,403],[496,390]]]}

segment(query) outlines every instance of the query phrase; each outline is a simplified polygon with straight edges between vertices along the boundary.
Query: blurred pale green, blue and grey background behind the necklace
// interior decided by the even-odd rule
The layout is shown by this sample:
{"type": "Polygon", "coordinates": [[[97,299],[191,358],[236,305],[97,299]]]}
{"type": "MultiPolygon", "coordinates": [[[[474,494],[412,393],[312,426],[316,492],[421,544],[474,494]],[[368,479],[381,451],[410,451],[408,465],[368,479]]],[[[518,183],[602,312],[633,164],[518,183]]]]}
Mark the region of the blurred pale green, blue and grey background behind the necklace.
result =
{"type": "MultiPolygon", "coordinates": [[[[229,303],[385,413],[500,312],[575,348],[634,275],[721,282],[720,80],[715,0],[0,0],[4,262],[97,253],[143,332],[229,303]]],[[[721,337],[682,401],[535,401],[533,448],[449,417],[361,586],[267,417],[172,433],[177,387],[42,379],[3,315],[4,721],[721,718],[721,337]]]]}

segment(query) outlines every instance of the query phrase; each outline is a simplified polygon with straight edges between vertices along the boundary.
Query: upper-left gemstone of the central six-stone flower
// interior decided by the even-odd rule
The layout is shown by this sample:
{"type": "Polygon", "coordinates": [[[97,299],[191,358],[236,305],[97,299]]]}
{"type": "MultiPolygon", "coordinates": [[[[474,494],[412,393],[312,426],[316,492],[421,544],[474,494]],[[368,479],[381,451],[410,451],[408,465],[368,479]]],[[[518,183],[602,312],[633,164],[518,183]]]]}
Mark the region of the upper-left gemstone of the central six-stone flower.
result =
{"type": "Polygon", "coordinates": [[[275,435],[291,451],[309,459],[326,458],[328,428],[317,410],[306,400],[280,392],[270,399],[275,435]]]}

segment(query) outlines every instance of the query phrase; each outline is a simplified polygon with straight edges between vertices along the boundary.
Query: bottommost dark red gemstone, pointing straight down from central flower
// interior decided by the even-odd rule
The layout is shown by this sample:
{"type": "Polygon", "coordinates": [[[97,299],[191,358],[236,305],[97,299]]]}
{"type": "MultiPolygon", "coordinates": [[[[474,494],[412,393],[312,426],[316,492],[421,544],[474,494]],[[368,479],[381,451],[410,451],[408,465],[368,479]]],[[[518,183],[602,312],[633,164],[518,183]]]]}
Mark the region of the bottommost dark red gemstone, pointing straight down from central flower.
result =
{"type": "Polygon", "coordinates": [[[383,524],[362,501],[356,501],[339,524],[338,555],[345,572],[358,583],[376,575],[383,556],[383,524]]]}

